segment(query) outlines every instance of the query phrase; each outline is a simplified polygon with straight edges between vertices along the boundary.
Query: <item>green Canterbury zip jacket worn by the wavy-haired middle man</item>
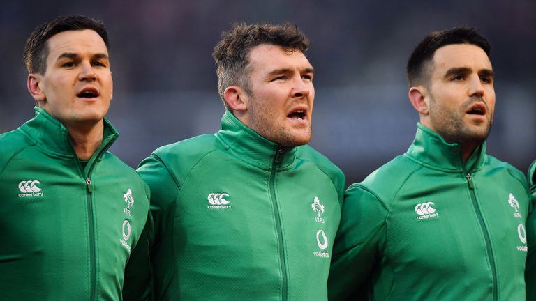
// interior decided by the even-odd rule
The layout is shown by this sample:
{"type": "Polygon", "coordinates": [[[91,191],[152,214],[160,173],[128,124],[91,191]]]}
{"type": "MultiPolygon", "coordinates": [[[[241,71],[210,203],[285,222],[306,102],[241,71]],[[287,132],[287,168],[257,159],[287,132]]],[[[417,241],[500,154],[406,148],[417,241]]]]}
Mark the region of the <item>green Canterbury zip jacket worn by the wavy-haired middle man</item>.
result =
{"type": "Polygon", "coordinates": [[[221,127],[138,169],[152,194],[156,300],[326,300],[343,173],[229,112],[221,127]]]}

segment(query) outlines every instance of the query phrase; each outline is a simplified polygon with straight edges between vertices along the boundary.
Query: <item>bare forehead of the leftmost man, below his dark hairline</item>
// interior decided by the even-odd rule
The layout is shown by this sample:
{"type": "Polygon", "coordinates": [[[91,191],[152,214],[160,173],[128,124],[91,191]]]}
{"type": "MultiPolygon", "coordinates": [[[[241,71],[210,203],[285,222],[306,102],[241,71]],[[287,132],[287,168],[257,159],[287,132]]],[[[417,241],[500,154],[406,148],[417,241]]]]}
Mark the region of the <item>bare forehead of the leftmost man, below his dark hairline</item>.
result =
{"type": "Polygon", "coordinates": [[[47,41],[47,60],[56,60],[64,53],[74,54],[108,54],[103,38],[91,29],[62,31],[47,41]]]}

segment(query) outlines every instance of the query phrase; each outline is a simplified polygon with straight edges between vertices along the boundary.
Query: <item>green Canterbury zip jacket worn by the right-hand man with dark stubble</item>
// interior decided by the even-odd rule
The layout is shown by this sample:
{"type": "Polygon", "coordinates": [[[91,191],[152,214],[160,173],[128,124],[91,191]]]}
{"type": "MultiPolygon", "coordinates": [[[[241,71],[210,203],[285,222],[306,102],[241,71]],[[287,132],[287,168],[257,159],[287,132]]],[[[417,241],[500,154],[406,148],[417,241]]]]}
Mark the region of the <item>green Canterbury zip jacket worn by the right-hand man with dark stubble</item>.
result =
{"type": "Polygon", "coordinates": [[[526,178],[486,155],[461,162],[422,124],[408,151],[348,187],[330,300],[525,300],[526,178]]]}

